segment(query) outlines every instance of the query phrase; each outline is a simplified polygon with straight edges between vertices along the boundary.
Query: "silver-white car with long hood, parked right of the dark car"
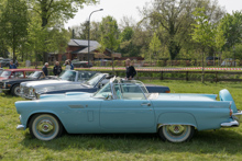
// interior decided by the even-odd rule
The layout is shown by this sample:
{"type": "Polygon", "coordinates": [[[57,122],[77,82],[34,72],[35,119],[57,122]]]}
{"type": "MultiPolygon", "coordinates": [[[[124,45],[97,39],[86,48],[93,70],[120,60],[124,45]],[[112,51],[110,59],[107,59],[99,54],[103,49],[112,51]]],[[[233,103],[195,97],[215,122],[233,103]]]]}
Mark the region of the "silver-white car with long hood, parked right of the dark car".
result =
{"type": "Polygon", "coordinates": [[[20,84],[20,95],[24,99],[35,99],[35,93],[40,91],[50,91],[58,89],[59,87],[76,87],[91,78],[96,71],[64,71],[58,80],[43,80],[43,81],[30,81],[22,82],[20,84]]]}

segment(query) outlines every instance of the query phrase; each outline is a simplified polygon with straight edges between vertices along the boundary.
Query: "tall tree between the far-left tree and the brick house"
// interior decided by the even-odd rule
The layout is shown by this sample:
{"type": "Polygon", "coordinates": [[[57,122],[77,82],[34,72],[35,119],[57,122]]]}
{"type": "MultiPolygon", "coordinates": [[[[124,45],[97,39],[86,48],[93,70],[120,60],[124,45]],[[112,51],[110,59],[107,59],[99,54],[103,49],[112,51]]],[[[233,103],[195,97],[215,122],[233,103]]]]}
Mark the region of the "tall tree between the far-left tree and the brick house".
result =
{"type": "MultiPolygon", "coordinates": [[[[97,0],[29,0],[29,8],[41,18],[41,26],[45,30],[53,24],[63,23],[82,8],[82,4],[96,3],[97,0]]],[[[45,42],[46,45],[47,42],[45,42]]],[[[44,61],[47,61],[47,53],[43,53],[44,61]]]]}

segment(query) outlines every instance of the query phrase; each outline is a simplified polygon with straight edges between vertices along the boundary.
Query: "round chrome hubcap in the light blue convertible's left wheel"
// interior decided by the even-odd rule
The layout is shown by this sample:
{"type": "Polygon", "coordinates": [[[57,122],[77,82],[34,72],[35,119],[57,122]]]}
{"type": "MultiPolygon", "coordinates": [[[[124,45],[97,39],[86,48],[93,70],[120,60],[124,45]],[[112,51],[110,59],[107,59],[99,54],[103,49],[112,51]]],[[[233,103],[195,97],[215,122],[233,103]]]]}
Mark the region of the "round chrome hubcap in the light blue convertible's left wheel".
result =
{"type": "Polygon", "coordinates": [[[42,134],[50,135],[54,131],[53,129],[54,125],[48,119],[43,119],[37,124],[37,130],[42,134]]]}

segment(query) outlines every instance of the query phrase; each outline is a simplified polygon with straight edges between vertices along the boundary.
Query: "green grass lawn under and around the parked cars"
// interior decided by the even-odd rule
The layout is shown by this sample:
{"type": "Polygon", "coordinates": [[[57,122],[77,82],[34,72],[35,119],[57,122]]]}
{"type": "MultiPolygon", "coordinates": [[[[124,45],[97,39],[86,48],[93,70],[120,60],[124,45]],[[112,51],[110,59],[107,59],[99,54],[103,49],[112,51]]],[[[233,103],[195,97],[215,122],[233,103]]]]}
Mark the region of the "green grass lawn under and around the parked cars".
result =
{"type": "MultiPolygon", "coordinates": [[[[228,89],[242,108],[242,83],[145,81],[168,85],[172,93],[215,93],[228,89]]],[[[241,160],[242,127],[196,133],[183,143],[163,142],[157,135],[67,135],[52,141],[15,130],[20,97],[0,94],[0,160],[241,160]]]]}

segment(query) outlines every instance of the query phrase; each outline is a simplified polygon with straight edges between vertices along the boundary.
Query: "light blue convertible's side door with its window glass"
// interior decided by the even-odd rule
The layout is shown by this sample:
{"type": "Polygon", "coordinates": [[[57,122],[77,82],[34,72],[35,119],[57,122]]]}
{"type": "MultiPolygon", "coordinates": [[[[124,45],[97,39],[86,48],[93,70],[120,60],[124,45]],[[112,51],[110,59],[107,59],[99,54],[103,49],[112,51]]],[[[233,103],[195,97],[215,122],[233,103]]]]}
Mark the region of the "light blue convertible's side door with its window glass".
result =
{"type": "MultiPolygon", "coordinates": [[[[143,93],[133,94],[132,90],[127,91],[119,85],[113,89],[117,99],[101,103],[100,126],[117,133],[145,131],[154,127],[155,116],[151,101],[143,93]]],[[[139,90],[136,92],[142,92],[139,90]]]]}

